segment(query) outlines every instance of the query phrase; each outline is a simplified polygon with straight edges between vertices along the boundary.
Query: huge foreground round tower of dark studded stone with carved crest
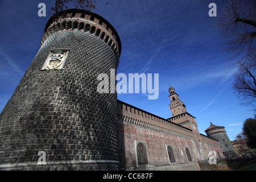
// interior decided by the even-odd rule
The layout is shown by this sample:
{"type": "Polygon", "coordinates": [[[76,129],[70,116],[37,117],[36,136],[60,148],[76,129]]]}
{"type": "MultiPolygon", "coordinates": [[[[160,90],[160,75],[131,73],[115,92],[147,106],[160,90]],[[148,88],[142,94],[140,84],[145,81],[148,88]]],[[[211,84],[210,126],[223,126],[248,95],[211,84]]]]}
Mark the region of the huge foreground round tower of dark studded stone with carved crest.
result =
{"type": "Polygon", "coordinates": [[[120,53],[117,31],[100,15],[52,16],[0,114],[0,169],[118,169],[117,94],[98,93],[97,77],[116,71],[120,53]]]}

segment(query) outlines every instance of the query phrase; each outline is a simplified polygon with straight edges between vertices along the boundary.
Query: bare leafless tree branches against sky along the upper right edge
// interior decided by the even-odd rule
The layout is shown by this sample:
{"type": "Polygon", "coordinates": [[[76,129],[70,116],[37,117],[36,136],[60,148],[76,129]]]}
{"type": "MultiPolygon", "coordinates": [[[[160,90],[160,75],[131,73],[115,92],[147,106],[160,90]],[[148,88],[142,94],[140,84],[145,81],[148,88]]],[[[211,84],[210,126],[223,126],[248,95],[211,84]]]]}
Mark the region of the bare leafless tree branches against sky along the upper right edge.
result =
{"type": "Polygon", "coordinates": [[[253,106],[256,98],[256,1],[218,1],[222,11],[218,13],[217,26],[222,28],[228,52],[238,71],[234,75],[233,88],[241,104],[253,106]]]}

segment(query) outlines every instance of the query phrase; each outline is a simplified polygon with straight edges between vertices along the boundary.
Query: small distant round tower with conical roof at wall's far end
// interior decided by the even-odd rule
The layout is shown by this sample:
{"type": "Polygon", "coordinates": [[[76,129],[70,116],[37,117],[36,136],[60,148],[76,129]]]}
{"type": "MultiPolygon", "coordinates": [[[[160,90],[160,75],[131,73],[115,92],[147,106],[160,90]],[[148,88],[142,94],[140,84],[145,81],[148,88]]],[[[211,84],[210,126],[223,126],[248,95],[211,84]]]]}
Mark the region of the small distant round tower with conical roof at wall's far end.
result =
{"type": "Polygon", "coordinates": [[[218,140],[225,158],[238,157],[236,150],[234,150],[234,147],[226,134],[224,126],[216,126],[210,122],[210,126],[205,130],[205,133],[208,137],[218,140]]]}

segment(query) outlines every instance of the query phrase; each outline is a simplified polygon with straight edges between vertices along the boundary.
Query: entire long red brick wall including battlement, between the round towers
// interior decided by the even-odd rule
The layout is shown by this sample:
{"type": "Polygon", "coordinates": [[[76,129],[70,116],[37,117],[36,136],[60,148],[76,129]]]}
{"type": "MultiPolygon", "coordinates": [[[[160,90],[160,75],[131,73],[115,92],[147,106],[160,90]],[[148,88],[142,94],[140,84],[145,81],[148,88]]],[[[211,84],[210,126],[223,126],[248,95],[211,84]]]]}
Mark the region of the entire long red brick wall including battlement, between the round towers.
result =
{"type": "Polygon", "coordinates": [[[207,160],[210,151],[218,151],[223,158],[217,140],[197,136],[193,130],[121,101],[118,101],[118,131],[121,169],[199,170],[197,162],[207,160]],[[138,163],[137,145],[140,142],[146,147],[146,164],[138,163]],[[169,158],[168,146],[172,148],[174,161],[169,158]],[[191,160],[185,148],[188,148],[191,160]]]}

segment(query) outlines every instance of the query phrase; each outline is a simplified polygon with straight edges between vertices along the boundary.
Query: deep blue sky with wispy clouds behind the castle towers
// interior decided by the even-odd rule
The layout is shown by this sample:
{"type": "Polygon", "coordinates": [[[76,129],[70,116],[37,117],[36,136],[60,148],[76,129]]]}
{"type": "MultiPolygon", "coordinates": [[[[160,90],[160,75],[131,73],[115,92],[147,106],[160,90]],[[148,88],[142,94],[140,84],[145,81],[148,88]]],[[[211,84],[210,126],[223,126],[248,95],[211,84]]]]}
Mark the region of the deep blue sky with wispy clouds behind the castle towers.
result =
{"type": "MultiPolygon", "coordinates": [[[[214,26],[217,18],[208,15],[209,2],[105,2],[98,0],[93,11],[107,19],[121,38],[117,73],[159,73],[157,100],[148,100],[148,94],[142,93],[118,94],[118,99],[169,118],[171,84],[188,113],[196,117],[200,133],[205,134],[211,121],[224,126],[233,140],[243,121],[254,117],[254,111],[241,106],[232,89],[237,68],[228,61],[231,55],[225,52],[221,31],[214,26]]],[[[0,0],[0,110],[38,52],[53,5],[52,0],[0,0]],[[46,17],[38,16],[39,3],[46,4],[46,17]]]]}

